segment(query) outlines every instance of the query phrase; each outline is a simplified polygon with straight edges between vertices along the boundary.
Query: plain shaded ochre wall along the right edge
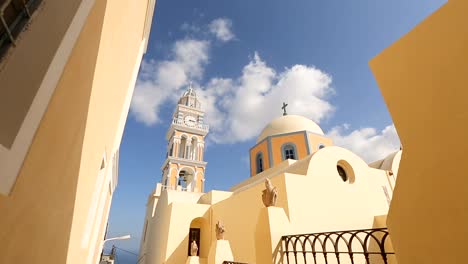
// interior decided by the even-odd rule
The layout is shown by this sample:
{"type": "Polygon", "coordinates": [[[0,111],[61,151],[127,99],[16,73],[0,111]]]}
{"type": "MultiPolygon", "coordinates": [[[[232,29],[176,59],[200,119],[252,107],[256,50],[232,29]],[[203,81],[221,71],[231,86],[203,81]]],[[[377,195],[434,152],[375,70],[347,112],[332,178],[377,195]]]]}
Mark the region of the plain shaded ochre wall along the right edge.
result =
{"type": "Polygon", "coordinates": [[[467,10],[448,1],[370,62],[405,151],[387,220],[400,264],[466,259],[467,10]]]}

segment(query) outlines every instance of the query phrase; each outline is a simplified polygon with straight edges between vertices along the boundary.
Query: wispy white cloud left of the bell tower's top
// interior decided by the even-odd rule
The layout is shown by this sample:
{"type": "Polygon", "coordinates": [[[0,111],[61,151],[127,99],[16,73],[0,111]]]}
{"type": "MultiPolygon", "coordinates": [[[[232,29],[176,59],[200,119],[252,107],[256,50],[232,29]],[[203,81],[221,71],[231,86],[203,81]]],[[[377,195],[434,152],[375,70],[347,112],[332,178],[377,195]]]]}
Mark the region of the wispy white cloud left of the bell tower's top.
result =
{"type": "Polygon", "coordinates": [[[146,125],[159,122],[160,106],[175,101],[188,81],[203,76],[209,47],[208,41],[184,39],[174,43],[171,59],[144,60],[130,108],[136,120],[146,125]]]}

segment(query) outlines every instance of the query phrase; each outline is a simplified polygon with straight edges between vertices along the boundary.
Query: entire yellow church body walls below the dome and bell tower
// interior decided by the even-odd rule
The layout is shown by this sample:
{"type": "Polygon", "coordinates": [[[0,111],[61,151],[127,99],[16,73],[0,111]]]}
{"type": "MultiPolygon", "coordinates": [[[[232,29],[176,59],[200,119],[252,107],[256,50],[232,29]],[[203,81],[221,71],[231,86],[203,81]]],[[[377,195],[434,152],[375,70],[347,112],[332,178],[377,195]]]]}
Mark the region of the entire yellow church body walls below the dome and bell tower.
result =
{"type": "MultiPolygon", "coordinates": [[[[159,231],[152,234],[155,244],[147,247],[149,254],[158,257],[146,263],[184,263],[189,225],[197,217],[209,223],[210,243],[216,239],[217,221],[224,223],[225,239],[231,245],[235,261],[266,263],[258,262],[261,257],[258,254],[267,259],[269,255],[271,260],[271,248],[278,246],[281,235],[372,228],[376,225],[375,217],[387,213],[389,204],[383,191],[384,187],[390,191],[387,174],[369,168],[346,149],[330,146],[302,160],[288,160],[280,165],[246,179],[233,193],[213,191],[196,200],[187,192],[168,191],[172,199],[158,204],[155,216],[159,219],[155,218],[153,224],[159,231]],[[336,169],[343,160],[352,169],[348,171],[347,182],[343,182],[336,169]],[[261,196],[265,177],[271,178],[278,190],[274,212],[264,210],[261,196]],[[270,236],[258,240],[258,234],[268,233],[272,228],[271,232],[275,232],[272,241],[267,241],[270,236]]],[[[162,194],[166,196],[167,193],[162,194]]]]}

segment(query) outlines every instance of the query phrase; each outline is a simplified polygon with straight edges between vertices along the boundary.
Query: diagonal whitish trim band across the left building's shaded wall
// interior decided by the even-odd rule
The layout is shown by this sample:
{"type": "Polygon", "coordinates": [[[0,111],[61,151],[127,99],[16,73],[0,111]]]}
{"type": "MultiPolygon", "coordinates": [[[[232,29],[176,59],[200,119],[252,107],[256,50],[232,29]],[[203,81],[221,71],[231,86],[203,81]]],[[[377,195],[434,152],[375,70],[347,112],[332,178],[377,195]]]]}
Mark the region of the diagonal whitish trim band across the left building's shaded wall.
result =
{"type": "Polygon", "coordinates": [[[32,140],[44,116],[49,101],[54,94],[57,83],[62,76],[81,29],[88,17],[95,0],[83,0],[78,7],[68,30],[65,32],[44,79],[37,90],[16,138],[8,150],[0,145],[0,194],[9,195],[16,182],[23,161],[31,146],[32,140]]]}

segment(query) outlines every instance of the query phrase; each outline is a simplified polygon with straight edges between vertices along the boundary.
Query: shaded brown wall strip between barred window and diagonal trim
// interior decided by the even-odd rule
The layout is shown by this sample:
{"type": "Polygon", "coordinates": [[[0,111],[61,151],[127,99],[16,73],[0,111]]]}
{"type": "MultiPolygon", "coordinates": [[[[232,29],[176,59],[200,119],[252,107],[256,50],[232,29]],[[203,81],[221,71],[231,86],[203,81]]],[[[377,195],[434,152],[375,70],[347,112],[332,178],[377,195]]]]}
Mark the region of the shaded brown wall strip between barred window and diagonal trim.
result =
{"type": "Polygon", "coordinates": [[[47,0],[0,63],[0,144],[13,143],[44,75],[82,2],[47,0]],[[57,12],[60,10],[60,12],[57,12]]]}

